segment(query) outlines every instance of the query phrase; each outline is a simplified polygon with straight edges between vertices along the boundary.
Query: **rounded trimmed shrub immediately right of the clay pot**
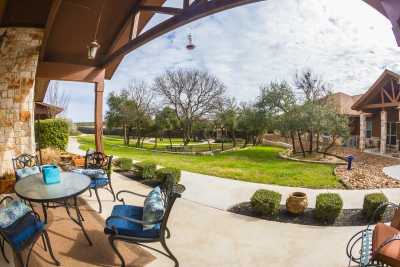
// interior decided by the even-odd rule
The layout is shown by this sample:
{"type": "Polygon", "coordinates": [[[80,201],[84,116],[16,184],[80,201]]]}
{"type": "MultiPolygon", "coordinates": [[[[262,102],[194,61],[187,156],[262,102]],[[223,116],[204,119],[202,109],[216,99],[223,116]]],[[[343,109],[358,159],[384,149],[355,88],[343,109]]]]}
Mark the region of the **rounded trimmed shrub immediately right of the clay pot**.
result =
{"type": "Polygon", "coordinates": [[[323,223],[333,223],[343,208],[343,200],[337,193],[323,193],[317,196],[315,218],[323,223]]]}

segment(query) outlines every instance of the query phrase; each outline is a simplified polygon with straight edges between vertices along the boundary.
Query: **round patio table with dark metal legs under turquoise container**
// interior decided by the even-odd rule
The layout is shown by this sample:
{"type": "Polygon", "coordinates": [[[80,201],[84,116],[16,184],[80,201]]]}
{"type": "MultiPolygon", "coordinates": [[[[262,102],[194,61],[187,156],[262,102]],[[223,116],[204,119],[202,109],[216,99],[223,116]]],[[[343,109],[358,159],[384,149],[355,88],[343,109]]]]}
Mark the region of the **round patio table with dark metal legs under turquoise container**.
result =
{"type": "Polygon", "coordinates": [[[84,219],[77,200],[78,196],[89,188],[90,182],[90,178],[86,175],[61,172],[59,183],[47,185],[43,181],[43,174],[38,173],[19,180],[15,184],[14,190],[21,199],[42,205],[45,223],[47,223],[48,208],[65,207],[68,216],[80,226],[89,244],[92,245],[92,241],[83,227],[84,219]],[[73,200],[72,204],[69,200],[73,200]],[[49,203],[54,203],[54,205],[50,206],[49,203]],[[75,209],[77,218],[71,216],[70,208],[75,209]]]}

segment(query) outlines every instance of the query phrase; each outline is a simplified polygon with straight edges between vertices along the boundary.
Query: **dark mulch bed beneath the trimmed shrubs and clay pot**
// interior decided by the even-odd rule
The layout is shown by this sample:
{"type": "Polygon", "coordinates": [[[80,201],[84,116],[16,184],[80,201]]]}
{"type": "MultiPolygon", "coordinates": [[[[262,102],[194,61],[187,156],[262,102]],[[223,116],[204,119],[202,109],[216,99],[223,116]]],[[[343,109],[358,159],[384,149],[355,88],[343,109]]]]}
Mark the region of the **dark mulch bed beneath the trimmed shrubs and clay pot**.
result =
{"type": "MultiPolygon", "coordinates": [[[[314,218],[314,209],[307,208],[302,215],[292,215],[287,212],[285,205],[281,205],[279,213],[276,217],[262,216],[253,211],[250,202],[242,202],[231,207],[228,211],[267,221],[294,223],[302,225],[326,226],[314,218]]],[[[393,217],[393,209],[388,208],[384,215],[384,221],[388,222],[393,217]]],[[[339,217],[330,226],[363,226],[367,225],[368,220],[364,218],[361,209],[344,209],[339,217]]]]}

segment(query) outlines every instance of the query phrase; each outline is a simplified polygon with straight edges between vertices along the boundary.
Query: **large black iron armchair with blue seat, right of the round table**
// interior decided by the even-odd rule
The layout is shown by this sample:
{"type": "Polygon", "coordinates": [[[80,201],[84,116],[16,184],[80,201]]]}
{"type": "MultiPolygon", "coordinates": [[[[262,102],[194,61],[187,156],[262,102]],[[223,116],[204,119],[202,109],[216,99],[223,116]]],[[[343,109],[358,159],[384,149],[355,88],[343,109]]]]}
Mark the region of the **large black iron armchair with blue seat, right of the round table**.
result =
{"type": "Polygon", "coordinates": [[[145,195],[126,190],[117,193],[117,199],[118,201],[122,201],[123,205],[114,206],[111,216],[106,220],[104,233],[109,236],[108,240],[114,252],[121,260],[122,267],[125,266],[125,260],[115,245],[116,241],[128,242],[152,249],[173,260],[176,267],[179,266],[177,258],[172,254],[166,244],[166,239],[171,237],[167,223],[175,200],[181,197],[184,191],[185,187],[183,185],[173,184],[172,182],[165,183],[164,186],[161,187],[165,212],[162,218],[152,222],[145,222],[142,220],[143,207],[126,205],[125,200],[120,198],[120,195],[125,193],[140,197],[146,197],[145,195]],[[143,229],[144,225],[153,224],[158,224],[159,227],[150,230],[143,229]],[[147,243],[154,242],[160,242],[165,252],[147,245],[147,243]]]}

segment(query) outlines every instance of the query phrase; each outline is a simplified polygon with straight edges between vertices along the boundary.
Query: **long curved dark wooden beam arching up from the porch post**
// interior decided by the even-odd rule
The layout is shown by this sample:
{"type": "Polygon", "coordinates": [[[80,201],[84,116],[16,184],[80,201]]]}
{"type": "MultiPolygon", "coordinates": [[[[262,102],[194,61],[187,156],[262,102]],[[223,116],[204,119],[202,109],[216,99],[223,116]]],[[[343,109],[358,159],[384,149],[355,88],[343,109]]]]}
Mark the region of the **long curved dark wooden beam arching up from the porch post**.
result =
{"type": "Polygon", "coordinates": [[[142,45],[154,40],[155,38],[175,30],[178,27],[186,25],[192,21],[201,19],[203,17],[231,9],[234,7],[252,4],[256,2],[261,2],[265,0],[211,0],[206,2],[201,2],[199,4],[192,4],[190,7],[183,9],[178,15],[167,19],[160,24],[154,26],[148,31],[140,34],[138,37],[129,41],[123,45],[118,50],[112,52],[110,55],[106,56],[103,61],[103,67],[112,63],[113,60],[125,56],[131,51],[141,47],[142,45]]]}

